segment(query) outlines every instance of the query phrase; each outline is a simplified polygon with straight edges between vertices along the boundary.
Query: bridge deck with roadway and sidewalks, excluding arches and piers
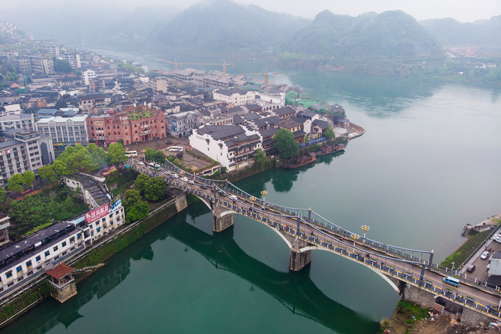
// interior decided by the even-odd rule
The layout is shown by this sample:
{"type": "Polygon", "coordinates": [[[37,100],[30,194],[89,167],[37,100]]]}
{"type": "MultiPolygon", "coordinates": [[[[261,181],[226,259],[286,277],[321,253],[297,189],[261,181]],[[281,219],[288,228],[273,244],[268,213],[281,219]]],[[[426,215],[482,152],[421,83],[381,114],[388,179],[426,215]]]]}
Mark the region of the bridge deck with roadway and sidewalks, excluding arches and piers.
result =
{"type": "MultiPolygon", "coordinates": [[[[250,201],[247,196],[242,197],[241,193],[233,191],[225,185],[217,184],[213,180],[201,179],[201,182],[198,183],[193,181],[185,182],[168,175],[159,175],[142,167],[132,166],[132,168],[148,176],[161,176],[167,184],[173,187],[267,224],[272,228],[279,229],[283,233],[293,235],[315,245],[318,249],[331,251],[345,258],[358,261],[375,271],[407,281],[420,288],[437,293],[437,295],[441,294],[442,297],[462,303],[469,308],[475,308],[480,312],[487,311],[490,316],[501,320],[501,312],[494,310],[495,307],[486,308],[486,305],[498,305],[501,302],[499,294],[492,292],[492,288],[464,282],[458,287],[450,285],[445,287],[442,278],[447,274],[429,268],[425,271],[423,279],[420,280],[422,261],[426,264],[427,262],[421,258],[416,258],[412,254],[406,254],[405,251],[401,251],[399,254],[399,252],[395,252],[394,246],[385,247],[384,244],[379,243],[375,247],[374,243],[367,242],[364,239],[361,242],[349,241],[346,236],[343,237],[343,234],[336,229],[329,228],[325,224],[319,224],[313,219],[308,221],[303,218],[303,215],[295,215],[294,212],[290,214],[289,212],[283,212],[284,210],[277,210],[279,206],[268,205],[268,203],[264,203],[265,205],[261,207],[255,206],[255,202],[250,201]],[[201,186],[207,186],[207,189],[203,189],[201,186]],[[237,199],[230,200],[218,196],[216,189],[225,193],[225,196],[235,195],[237,199]],[[469,298],[467,299],[466,296],[469,298]]],[[[164,165],[164,168],[175,173],[181,173],[181,170],[176,167],[164,165]]],[[[186,172],[184,174],[193,177],[193,175],[186,172]]],[[[196,180],[200,179],[196,178],[196,180]]],[[[433,264],[430,266],[435,268],[433,264]]],[[[449,275],[452,274],[449,273],[449,275]]]]}

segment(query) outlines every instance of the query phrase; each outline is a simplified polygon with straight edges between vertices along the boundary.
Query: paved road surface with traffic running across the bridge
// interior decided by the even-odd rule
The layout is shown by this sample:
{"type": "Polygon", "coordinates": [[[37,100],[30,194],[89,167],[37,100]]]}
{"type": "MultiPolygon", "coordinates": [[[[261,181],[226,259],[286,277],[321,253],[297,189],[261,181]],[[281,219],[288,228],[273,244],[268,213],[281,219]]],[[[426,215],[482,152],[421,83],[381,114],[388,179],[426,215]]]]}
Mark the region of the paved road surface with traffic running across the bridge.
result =
{"type": "MultiPolygon", "coordinates": [[[[136,163],[136,167],[139,169],[142,169],[143,171],[147,171],[149,173],[152,173],[152,169],[149,169],[145,166],[138,165],[136,163]]],[[[173,179],[172,176],[166,175],[166,172],[158,171],[154,172],[157,173],[158,176],[164,176],[168,177],[169,179],[173,179]]],[[[200,191],[206,195],[212,196],[214,198],[214,194],[212,191],[212,187],[210,186],[203,186],[201,183],[193,182],[193,181],[182,181],[180,178],[176,179],[177,182],[179,182],[181,185],[184,185],[190,189],[200,191]],[[203,189],[202,187],[205,187],[206,189],[203,189]]],[[[291,216],[284,216],[283,214],[278,214],[278,212],[270,209],[270,208],[264,208],[259,207],[258,205],[254,205],[252,202],[250,202],[247,198],[240,198],[238,197],[236,200],[231,200],[229,199],[229,195],[226,194],[224,198],[221,198],[221,196],[217,195],[217,198],[223,199],[225,201],[228,201],[229,204],[236,205],[238,208],[244,209],[244,211],[247,212],[245,214],[246,216],[249,216],[250,218],[253,218],[250,216],[251,214],[258,214],[260,217],[266,216],[269,217],[274,217],[273,219],[276,222],[280,222],[282,225],[283,229],[288,229],[290,228],[290,231],[297,231],[297,219],[291,216]],[[233,203],[231,203],[233,202],[233,203]]],[[[351,254],[359,254],[359,256],[363,256],[366,259],[371,258],[371,260],[375,261],[378,264],[378,268],[386,270],[388,268],[394,269],[395,271],[398,271],[399,273],[407,274],[409,277],[415,278],[415,279],[420,279],[420,273],[421,273],[421,267],[418,265],[414,265],[411,263],[406,263],[404,261],[399,260],[397,257],[391,255],[391,254],[386,254],[384,252],[381,252],[377,249],[369,248],[366,245],[356,243],[354,246],[353,240],[347,240],[347,239],[340,239],[339,235],[336,235],[328,230],[324,230],[322,228],[319,228],[318,226],[312,227],[309,224],[306,224],[304,222],[301,222],[299,225],[299,230],[302,233],[308,234],[310,236],[315,236],[318,238],[318,240],[321,241],[328,241],[331,243],[331,245],[336,246],[336,247],[341,247],[346,250],[347,253],[351,254]],[[311,234],[311,231],[313,231],[313,235],[311,234]],[[367,256],[367,254],[369,256],[367,256]]],[[[492,292],[489,291],[484,291],[481,290],[475,286],[470,286],[465,283],[460,283],[458,287],[454,287],[452,285],[444,284],[442,282],[443,275],[436,273],[434,271],[430,270],[425,270],[424,273],[424,279],[427,280],[428,282],[431,282],[437,293],[440,293],[443,289],[448,289],[452,293],[456,294],[458,296],[468,296],[471,298],[474,298],[475,302],[481,304],[481,305],[495,305],[497,306],[500,302],[501,299],[499,296],[494,295],[492,292]]]]}

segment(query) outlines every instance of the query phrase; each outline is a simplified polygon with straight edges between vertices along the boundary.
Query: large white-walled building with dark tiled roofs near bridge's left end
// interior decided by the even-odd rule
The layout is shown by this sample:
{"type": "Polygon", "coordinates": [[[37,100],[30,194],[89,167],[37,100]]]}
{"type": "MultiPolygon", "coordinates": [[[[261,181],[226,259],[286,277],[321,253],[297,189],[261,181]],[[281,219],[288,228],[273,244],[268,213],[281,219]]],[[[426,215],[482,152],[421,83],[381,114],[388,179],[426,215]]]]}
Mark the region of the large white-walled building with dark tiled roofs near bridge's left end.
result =
{"type": "Polygon", "coordinates": [[[262,147],[259,131],[239,125],[206,125],[189,137],[192,148],[218,161],[228,171],[254,163],[256,149],[262,147]]]}

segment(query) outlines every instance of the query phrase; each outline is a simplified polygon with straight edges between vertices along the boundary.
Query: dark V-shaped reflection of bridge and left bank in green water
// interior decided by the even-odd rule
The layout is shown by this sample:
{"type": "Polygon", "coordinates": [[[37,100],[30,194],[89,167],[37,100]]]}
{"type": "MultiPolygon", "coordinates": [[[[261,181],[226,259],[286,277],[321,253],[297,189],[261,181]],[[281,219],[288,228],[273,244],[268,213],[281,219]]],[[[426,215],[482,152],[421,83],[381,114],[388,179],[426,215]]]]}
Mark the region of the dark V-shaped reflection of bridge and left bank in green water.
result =
{"type": "Polygon", "coordinates": [[[6,329],[7,333],[42,334],[59,323],[68,327],[82,317],[79,309],[94,296],[103,297],[129,274],[131,259],[152,259],[151,245],[168,236],[204,256],[217,269],[223,269],[245,279],[253,286],[273,296],[292,313],[319,322],[339,333],[375,332],[378,323],[326,296],[310,279],[308,270],[281,272],[247,255],[233,239],[233,228],[208,234],[186,222],[186,214],[196,217],[208,213],[203,205],[194,205],[145,235],[143,245],[132,245],[93,276],[79,284],[79,293],[64,304],[49,299],[29,311],[20,321],[6,329]],[[141,249],[137,249],[140,246],[141,249]],[[29,318],[29,319],[28,319],[29,318]],[[26,321],[29,320],[29,321],[26,321]]]}

